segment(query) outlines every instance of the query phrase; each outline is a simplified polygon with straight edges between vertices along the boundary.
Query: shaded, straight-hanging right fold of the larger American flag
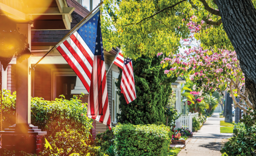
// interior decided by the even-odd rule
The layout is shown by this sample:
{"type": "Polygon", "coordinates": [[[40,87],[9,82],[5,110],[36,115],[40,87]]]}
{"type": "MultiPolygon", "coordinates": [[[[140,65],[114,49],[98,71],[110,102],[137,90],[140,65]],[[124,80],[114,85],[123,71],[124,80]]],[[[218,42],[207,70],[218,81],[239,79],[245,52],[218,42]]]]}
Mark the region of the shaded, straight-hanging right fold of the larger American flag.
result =
{"type": "Polygon", "coordinates": [[[100,29],[100,19],[96,36],[91,88],[89,91],[87,116],[108,126],[111,130],[105,59],[100,29]]]}

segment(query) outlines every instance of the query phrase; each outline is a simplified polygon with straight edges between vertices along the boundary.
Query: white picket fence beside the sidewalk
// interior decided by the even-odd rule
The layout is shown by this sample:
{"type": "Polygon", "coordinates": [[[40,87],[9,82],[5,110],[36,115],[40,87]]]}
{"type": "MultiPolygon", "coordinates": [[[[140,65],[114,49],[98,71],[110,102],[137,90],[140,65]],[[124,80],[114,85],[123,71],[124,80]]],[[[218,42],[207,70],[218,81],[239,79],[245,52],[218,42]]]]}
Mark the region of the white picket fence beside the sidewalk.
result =
{"type": "Polygon", "coordinates": [[[176,129],[183,127],[185,129],[188,128],[192,132],[193,117],[198,117],[198,112],[195,114],[181,115],[181,117],[175,121],[176,129]]]}

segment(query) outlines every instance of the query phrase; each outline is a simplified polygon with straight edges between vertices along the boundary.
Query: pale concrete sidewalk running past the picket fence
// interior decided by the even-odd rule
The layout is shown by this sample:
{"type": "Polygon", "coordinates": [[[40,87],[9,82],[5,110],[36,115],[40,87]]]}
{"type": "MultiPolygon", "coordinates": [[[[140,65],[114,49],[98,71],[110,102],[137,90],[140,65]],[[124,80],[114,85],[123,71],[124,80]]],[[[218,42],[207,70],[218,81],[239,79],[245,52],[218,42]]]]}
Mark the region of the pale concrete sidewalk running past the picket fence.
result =
{"type": "Polygon", "coordinates": [[[230,133],[220,133],[220,118],[218,113],[213,114],[206,120],[202,128],[193,134],[186,147],[179,152],[178,156],[210,156],[222,155],[219,151],[223,141],[231,137],[230,133]]]}

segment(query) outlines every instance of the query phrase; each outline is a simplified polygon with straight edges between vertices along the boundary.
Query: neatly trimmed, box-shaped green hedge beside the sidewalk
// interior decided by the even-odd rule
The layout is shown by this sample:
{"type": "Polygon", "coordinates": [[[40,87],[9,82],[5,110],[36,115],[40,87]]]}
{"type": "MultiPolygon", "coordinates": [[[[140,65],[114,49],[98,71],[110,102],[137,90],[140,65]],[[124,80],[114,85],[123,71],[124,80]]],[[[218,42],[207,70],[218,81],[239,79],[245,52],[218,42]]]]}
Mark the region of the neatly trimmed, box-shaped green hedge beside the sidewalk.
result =
{"type": "Polygon", "coordinates": [[[116,155],[167,155],[169,152],[172,132],[165,125],[119,124],[113,131],[116,155]]]}

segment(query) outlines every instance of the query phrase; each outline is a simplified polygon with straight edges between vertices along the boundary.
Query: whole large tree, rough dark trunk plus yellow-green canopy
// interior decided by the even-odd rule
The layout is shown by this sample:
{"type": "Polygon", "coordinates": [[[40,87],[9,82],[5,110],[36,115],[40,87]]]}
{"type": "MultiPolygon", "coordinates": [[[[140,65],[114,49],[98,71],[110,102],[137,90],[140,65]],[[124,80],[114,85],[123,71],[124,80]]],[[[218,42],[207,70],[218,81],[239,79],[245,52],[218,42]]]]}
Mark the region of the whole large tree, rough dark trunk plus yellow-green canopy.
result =
{"type": "MultiPolygon", "coordinates": [[[[221,56],[221,62],[213,61],[219,65],[224,63],[230,72],[227,76],[220,72],[219,78],[228,77],[226,80],[229,81],[220,88],[226,89],[229,87],[227,83],[231,83],[231,90],[239,92],[241,86],[238,87],[238,83],[245,82],[244,100],[250,97],[250,106],[256,108],[255,4],[255,0],[106,0],[103,10],[109,16],[102,20],[104,44],[107,50],[120,46],[124,55],[134,59],[142,54],[154,56],[157,53],[173,59],[184,43],[192,40],[197,40],[197,48],[210,57],[212,54],[223,55],[223,51],[233,52],[232,57],[237,57],[239,61],[232,60],[236,64],[231,64],[232,67],[223,61],[225,56],[221,56]],[[234,68],[237,70],[234,71],[234,68]],[[238,73],[239,82],[234,81],[232,76],[236,74],[232,72],[238,73]],[[237,87],[232,87],[234,83],[237,87]]],[[[190,48],[195,45],[185,46],[190,48]]],[[[205,55],[201,59],[205,60],[205,55]]],[[[215,69],[219,65],[215,65],[215,69]]],[[[219,75],[213,73],[209,76],[200,77],[200,80],[217,80],[219,75]]],[[[243,95],[240,96],[243,98],[243,95]]]]}

